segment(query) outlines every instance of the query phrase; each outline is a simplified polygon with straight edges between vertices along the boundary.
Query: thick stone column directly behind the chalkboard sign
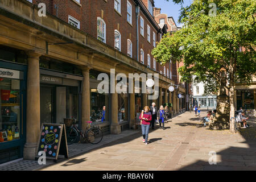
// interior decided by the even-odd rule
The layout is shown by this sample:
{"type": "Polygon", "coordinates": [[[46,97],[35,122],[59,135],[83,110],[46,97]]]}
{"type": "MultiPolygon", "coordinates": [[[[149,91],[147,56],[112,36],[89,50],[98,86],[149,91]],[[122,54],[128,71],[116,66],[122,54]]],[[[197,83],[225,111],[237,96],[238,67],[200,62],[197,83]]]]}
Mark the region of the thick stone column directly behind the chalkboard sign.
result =
{"type": "Polygon", "coordinates": [[[32,51],[27,54],[27,133],[23,158],[26,160],[35,160],[36,147],[40,134],[40,54],[32,51]]]}

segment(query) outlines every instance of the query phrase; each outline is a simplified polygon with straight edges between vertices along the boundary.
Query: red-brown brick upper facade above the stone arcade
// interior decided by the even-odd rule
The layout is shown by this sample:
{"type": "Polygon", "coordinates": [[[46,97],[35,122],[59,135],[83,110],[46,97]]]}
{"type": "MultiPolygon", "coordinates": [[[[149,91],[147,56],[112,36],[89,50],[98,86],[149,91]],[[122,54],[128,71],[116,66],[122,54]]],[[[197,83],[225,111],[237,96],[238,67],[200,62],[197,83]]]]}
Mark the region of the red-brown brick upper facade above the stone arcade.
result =
{"type": "MultiPolygon", "coordinates": [[[[97,39],[97,17],[100,17],[106,23],[106,44],[114,48],[114,31],[118,30],[121,34],[121,52],[127,55],[127,39],[132,43],[132,57],[137,60],[137,34],[136,34],[136,13],[135,2],[129,0],[132,5],[132,23],[127,22],[127,1],[121,0],[121,13],[114,9],[114,1],[105,0],[80,0],[76,3],[75,0],[34,0],[33,3],[46,3],[47,12],[57,16],[61,20],[68,22],[68,15],[79,20],[80,30],[84,31],[97,39]],[[58,6],[57,9],[55,6],[58,6]]],[[[148,0],[142,0],[144,7],[148,8],[148,0]]],[[[154,1],[151,1],[154,5],[154,1]]],[[[147,11],[147,10],[146,10],[147,11]]],[[[154,20],[154,17],[151,17],[154,20]]],[[[157,23],[157,22],[156,22],[157,23]]],[[[150,68],[154,68],[153,56],[151,50],[153,46],[153,32],[155,32],[155,41],[160,41],[159,34],[160,27],[156,29],[150,20],[143,14],[142,10],[139,12],[139,60],[141,57],[141,49],[144,51],[144,64],[147,65],[147,55],[150,55],[150,68]],[[140,33],[141,17],[144,19],[144,37],[140,33]],[[147,41],[147,25],[150,26],[150,43],[147,41]]],[[[166,64],[169,68],[169,64],[166,64]]],[[[156,71],[164,72],[164,67],[156,63],[156,71]]],[[[167,74],[166,74],[167,76],[167,74]]]]}

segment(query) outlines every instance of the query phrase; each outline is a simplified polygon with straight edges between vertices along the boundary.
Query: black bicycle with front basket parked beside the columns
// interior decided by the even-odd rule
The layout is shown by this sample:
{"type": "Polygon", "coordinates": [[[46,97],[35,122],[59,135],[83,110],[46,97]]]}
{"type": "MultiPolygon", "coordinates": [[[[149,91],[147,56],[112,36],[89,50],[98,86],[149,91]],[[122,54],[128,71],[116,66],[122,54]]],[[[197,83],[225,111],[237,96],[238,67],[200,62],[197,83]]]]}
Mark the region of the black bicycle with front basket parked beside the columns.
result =
{"type": "Polygon", "coordinates": [[[86,121],[88,123],[88,126],[86,127],[86,131],[80,131],[76,127],[76,118],[73,118],[72,126],[66,126],[66,133],[67,133],[67,143],[72,144],[76,142],[80,135],[84,141],[87,141],[92,144],[100,143],[103,138],[103,133],[101,129],[98,126],[90,126],[92,121],[86,121]]]}

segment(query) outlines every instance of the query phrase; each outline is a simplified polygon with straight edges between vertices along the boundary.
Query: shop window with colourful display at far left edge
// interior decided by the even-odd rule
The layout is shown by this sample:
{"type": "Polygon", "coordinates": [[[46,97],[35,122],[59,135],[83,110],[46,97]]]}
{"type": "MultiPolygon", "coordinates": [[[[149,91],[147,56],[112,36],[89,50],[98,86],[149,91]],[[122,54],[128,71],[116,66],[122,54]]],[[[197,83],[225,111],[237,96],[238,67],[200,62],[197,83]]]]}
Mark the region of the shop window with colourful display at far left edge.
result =
{"type": "Polygon", "coordinates": [[[0,142],[20,138],[20,81],[0,77],[0,142]]]}

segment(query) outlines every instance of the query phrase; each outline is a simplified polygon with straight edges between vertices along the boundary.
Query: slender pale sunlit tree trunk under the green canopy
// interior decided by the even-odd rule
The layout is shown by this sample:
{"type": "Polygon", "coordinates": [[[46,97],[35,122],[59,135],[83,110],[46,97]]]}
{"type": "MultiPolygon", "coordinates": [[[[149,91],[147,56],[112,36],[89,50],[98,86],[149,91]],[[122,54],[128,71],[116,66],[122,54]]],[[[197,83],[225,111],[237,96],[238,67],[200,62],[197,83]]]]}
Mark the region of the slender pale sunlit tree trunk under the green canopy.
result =
{"type": "Polygon", "coordinates": [[[229,89],[229,121],[230,121],[230,132],[234,133],[234,67],[233,60],[230,60],[230,89],[229,89]],[[231,119],[232,118],[232,119],[231,119]]]}

